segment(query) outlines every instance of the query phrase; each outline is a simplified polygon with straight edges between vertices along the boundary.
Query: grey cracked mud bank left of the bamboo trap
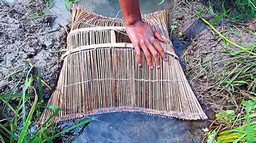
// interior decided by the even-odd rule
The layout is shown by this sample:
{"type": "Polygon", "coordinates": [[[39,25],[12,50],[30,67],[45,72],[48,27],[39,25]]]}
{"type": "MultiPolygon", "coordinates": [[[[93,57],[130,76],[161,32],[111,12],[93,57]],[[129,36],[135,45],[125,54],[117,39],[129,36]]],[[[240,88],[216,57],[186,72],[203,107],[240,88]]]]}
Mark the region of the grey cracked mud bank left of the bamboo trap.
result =
{"type": "MultiPolygon", "coordinates": [[[[42,15],[43,2],[0,2],[0,93],[10,93],[18,81],[15,93],[22,91],[28,62],[35,64],[32,70],[37,75],[41,69],[42,79],[55,88],[59,75],[60,50],[65,46],[62,26],[51,27],[55,19],[51,13],[42,15]]],[[[43,87],[45,101],[52,90],[43,87]]],[[[17,102],[15,99],[12,102],[17,102]]],[[[14,103],[15,104],[15,103],[14,103]]],[[[0,101],[0,112],[3,103],[0,101]]],[[[7,109],[8,111],[9,109],[7,109]]],[[[2,114],[0,115],[1,119],[2,114]]]]}

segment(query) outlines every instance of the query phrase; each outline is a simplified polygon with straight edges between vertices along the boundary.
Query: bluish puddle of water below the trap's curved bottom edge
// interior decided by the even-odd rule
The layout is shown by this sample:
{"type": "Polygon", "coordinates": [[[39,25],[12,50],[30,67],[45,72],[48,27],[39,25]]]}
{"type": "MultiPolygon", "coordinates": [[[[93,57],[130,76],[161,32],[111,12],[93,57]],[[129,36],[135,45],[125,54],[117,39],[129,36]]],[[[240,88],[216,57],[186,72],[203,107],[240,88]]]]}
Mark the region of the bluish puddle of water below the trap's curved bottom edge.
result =
{"type": "MultiPolygon", "coordinates": [[[[105,113],[91,117],[92,122],[75,142],[191,142],[188,133],[191,127],[182,120],[133,112],[105,113]]],[[[73,123],[68,121],[60,128],[73,123]]],[[[82,128],[76,128],[72,134],[76,135],[82,128]]]]}

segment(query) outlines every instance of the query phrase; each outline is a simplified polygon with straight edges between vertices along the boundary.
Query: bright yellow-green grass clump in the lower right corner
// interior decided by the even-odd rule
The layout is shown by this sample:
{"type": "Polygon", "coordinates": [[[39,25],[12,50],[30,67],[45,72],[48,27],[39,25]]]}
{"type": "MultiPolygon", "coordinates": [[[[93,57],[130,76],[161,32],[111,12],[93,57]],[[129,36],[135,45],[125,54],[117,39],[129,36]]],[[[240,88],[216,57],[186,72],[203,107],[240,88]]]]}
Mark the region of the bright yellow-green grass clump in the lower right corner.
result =
{"type": "Polygon", "coordinates": [[[256,101],[243,101],[241,112],[223,110],[216,114],[215,130],[206,131],[209,142],[255,142],[256,141],[256,101]],[[215,137],[216,140],[215,140],[215,137]]]}

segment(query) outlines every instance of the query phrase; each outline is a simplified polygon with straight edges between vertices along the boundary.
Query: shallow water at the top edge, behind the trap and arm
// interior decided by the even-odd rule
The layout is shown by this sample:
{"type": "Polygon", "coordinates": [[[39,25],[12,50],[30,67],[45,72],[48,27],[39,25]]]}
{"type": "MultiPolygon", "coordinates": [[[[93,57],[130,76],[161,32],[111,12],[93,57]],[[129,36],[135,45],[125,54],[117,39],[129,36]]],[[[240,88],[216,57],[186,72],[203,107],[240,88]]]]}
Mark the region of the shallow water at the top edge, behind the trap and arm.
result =
{"type": "MultiPolygon", "coordinates": [[[[8,0],[14,1],[14,0],[8,0]]],[[[161,0],[158,1],[139,1],[140,11],[142,14],[150,13],[161,9],[169,9],[171,6],[172,0],[165,0],[164,3],[158,5],[161,0]]],[[[66,24],[67,21],[70,20],[70,14],[66,11],[63,0],[55,0],[53,1],[54,5],[52,11],[55,12],[57,18],[53,23],[53,26],[56,26],[58,23],[66,24]]],[[[85,8],[92,9],[96,13],[107,17],[122,17],[122,12],[119,12],[120,5],[118,0],[80,0],[78,3],[83,4],[85,8]]]]}

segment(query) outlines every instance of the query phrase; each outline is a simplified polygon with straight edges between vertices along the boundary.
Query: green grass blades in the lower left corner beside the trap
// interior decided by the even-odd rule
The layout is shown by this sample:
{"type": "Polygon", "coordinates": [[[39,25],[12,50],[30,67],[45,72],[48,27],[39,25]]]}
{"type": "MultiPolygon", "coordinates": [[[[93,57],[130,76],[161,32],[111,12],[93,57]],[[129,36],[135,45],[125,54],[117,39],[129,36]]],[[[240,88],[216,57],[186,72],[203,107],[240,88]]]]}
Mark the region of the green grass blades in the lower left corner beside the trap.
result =
{"type": "Polygon", "coordinates": [[[5,117],[0,122],[0,140],[2,142],[52,142],[53,139],[60,137],[65,132],[69,132],[78,126],[87,125],[92,121],[91,118],[82,120],[76,125],[66,127],[63,131],[57,131],[52,118],[60,109],[57,106],[45,106],[41,72],[38,70],[37,75],[32,75],[32,70],[35,70],[34,65],[30,63],[22,94],[14,93],[16,88],[21,86],[22,82],[18,82],[10,94],[0,95],[0,100],[4,102],[2,114],[5,117]],[[37,82],[35,82],[36,79],[37,82]],[[32,83],[38,84],[33,85],[32,83]],[[19,99],[19,103],[12,103],[12,99],[19,99]],[[36,128],[35,126],[44,108],[53,109],[55,112],[44,124],[36,128]],[[12,113],[7,114],[6,109],[10,109],[12,113]]]}

